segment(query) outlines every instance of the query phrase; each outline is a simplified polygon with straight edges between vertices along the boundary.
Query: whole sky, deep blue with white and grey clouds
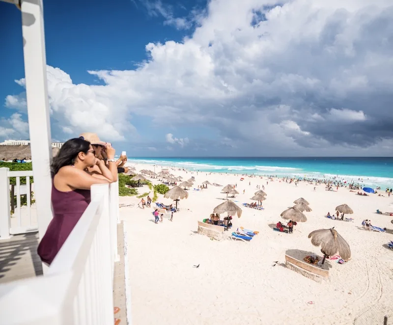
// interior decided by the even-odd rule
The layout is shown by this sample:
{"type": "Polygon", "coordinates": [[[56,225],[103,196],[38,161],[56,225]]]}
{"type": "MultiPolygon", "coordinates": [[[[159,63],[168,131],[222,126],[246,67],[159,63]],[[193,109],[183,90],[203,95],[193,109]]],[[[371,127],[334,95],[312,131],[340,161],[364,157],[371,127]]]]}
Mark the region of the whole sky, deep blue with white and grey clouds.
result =
{"type": "MultiPolygon", "coordinates": [[[[0,15],[0,141],[28,139],[21,13],[0,15]]],[[[392,0],[44,0],[52,139],[393,156],[392,17],[392,0]]]]}

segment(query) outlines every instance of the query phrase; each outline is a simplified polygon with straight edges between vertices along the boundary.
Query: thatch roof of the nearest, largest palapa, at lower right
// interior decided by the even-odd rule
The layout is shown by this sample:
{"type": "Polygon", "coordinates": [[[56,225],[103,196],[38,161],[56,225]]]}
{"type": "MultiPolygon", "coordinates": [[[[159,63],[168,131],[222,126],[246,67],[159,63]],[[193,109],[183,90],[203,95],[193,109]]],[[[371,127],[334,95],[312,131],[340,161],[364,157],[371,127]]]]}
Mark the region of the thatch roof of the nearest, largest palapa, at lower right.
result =
{"type": "Polygon", "coordinates": [[[309,233],[309,238],[311,238],[311,244],[321,246],[322,252],[328,256],[338,253],[344,260],[351,257],[351,248],[348,243],[333,228],[314,230],[309,233]]]}

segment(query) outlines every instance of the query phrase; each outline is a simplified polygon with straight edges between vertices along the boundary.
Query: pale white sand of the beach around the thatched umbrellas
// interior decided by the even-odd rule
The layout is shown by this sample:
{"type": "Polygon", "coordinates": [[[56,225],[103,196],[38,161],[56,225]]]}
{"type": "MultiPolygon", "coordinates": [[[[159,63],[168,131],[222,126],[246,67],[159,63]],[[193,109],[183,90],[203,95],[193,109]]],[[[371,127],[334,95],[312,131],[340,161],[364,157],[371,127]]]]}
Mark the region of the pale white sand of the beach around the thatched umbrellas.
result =
{"type": "MultiPolygon", "coordinates": [[[[153,170],[152,165],[135,165],[153,170]]],[[[155,171],[161,168],[155,167],[155,171]]],[[[206,174],[170,169],[187,180],[195,176],[197,185],[208,180],[222,187],[208,186],[202,191],[189,190],[188,199],[179,202],[181,211],[173,221],[164,218],[154,223],[151,208],[138,207],[140,199],[120,197],[120,203],[134,206],[120,209],[125,221],[133,324],[383,324],[384,315],[393,324],[393,217],[377,215],[393,211],[393,197],[375,194],[359,196],[348,189],[327,191],[324,185],[295,185],[267,178],[232,174],[206,174]],[[251,185],[249,185],[251,182],[251,185]],[[222,188],[237,183],[235,202],[242,208],[240,218],[233,217],[232,231],[243,226],[259,231],[249,243],[216,241],[197,233],[197,221],[209,217],[213,208],[224,202],[222,188]],[[265,186],[267,199],[263,211],[245,208],[243,202],[265,186]],[[243,194],[245,190],[245,194],[243,194]],[[273,231],[282,211],[304,197],[311,212],[307,222],[298,223],[293,234],[273,231]],[[324,217],[346,203],[354,211],[352,222],[324,217]],[[386,227],[385,233],[367,231],[361,222],[386,227]],[[316,229],[335,227],[351,247],[351,259],[344,264],[327,259],[330,277],[321,283],[285,268],[285,252],[299,249],[321,255],[308,234],[316,229]],[[278,261],[278,263],[275,263],[278,261]],[[193,267],[200,265],[199,268],[193,267]],[[274,266],[275,265],[275,266],[274,266]],[[312,302],[312,303],[309,303],[312,302]]],[[[158,184],[157,179],[152,179],[158,184]]],[[[143,187],[139,192],[148,192],[143,187]]],[[[382,193],[382,192],[381,192],[382,193]]],[[[151,192],[151,196],[153,193],[151,192]]],[[[159,195],[158,202],[172,203],[159,195]]],[[[226,216],[226,214],[225,214],[226,216]]],[[[224,216],[222,216],[224,217],[224,216]]],[[[225,232],[230,236],[231,231],[225,232]]]]}

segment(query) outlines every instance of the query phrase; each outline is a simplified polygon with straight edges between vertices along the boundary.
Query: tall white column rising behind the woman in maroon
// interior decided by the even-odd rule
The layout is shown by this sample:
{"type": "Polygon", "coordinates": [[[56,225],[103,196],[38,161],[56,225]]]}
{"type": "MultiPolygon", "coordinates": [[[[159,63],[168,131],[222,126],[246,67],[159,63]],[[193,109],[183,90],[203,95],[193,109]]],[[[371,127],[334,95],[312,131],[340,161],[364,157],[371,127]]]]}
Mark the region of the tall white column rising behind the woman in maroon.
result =
{"type": "Polygon", "coordinates": [[[22,33],[34,196],[40,238],[52,219],[51,126],[42,0],[22,0],[22,33]]]}

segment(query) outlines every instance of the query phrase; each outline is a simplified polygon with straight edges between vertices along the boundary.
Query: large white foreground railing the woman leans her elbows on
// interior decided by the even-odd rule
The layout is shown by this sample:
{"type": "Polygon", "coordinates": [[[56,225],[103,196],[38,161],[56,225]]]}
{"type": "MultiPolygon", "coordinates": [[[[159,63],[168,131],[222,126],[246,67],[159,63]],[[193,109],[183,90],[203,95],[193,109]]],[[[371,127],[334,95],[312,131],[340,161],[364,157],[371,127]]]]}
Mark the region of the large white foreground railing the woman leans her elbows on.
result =
{"type": "Polygon", "coordinates": [[[117,188],[91,187],[91,203],[44,276],[0,285],[0,324],[113,324],[117,188]]]}

